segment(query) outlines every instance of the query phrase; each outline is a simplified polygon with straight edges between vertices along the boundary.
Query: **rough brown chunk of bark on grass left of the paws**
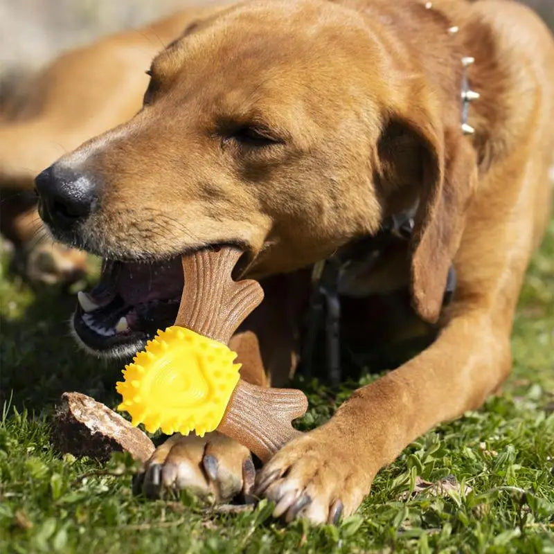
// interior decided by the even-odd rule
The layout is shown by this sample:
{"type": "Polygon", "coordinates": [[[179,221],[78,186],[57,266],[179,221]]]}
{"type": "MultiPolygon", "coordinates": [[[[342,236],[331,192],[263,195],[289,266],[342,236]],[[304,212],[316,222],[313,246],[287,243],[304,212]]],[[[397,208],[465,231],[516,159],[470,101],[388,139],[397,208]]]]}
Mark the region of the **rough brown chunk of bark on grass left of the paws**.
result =
{"type": "Polygon", "coordinates": [[[145,462],[154,443],[113,410],[81,393],[64,393],[53,420],[52,441],[60,452],[106,461],[114,451],[145,462]]]}

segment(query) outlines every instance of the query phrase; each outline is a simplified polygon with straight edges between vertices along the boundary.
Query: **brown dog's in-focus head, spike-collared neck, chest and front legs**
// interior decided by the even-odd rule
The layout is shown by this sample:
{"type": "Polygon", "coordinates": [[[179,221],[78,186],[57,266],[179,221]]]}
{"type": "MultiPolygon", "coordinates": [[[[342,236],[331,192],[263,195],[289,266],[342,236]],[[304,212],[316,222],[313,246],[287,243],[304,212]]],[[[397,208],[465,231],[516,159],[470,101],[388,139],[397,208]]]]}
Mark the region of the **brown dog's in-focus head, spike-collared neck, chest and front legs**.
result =
{"type": "MultiPolygon", "coordinates": [[[[388,325],[379,295],[408,287],[413,311],[395,330],[411,336],[417,319],[431,346],[258,475],[276,516],[336,521],[411,440],[510,373],[515,304],[550,205],[552,37],[510,1],[255,0],[188,26],[150,73],[139,114],[37,177],[53,234],[107,260],[75,334],[98,353],[134,352],[175,317],[178,256],[238,244],[266,299],[233,346],[245,377],[281,384],[298,359],[306,267],[351,262],[339,273],[345,333],[366,344],[388,325]],[[350,253],[414,206],[409,241],[370,265],[350,253]],[[248,330],[265,375],[244,358],[248,330]]],[[[250,486],[249,453],[217,434],[170,438],[139,483],[222,499],[250,486]]]]}

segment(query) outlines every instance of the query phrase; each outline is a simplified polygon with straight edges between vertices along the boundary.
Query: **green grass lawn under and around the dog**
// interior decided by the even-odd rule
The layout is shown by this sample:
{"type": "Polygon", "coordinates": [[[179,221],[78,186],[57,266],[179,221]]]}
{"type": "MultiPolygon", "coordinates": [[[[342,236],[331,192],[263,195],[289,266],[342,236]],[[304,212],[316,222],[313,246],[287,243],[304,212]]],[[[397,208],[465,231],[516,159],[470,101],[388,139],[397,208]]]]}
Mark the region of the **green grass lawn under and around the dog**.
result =
{"type": "MultiPolygon", "coordinates": [[[[79,390],[114,406],[119,368],[87,357],[67,337],[71,296],[37,294],[4,274],[0,302],[0,552],[554,554],[554,222],[521,294],[514,372],[503,393],[410,445],[338,527],[283,526],[265,502],[222,513],[187,494],[145,501],[132,497],[125,456],[106,465],[60,456],[48,436],[53,403],[79,390]],[[460,487],[447,496],[410,496],[416,476],[449,475],[460,487]]],[[[305,384],[303,427],[328,418],[358,385],[305,384]]]]}

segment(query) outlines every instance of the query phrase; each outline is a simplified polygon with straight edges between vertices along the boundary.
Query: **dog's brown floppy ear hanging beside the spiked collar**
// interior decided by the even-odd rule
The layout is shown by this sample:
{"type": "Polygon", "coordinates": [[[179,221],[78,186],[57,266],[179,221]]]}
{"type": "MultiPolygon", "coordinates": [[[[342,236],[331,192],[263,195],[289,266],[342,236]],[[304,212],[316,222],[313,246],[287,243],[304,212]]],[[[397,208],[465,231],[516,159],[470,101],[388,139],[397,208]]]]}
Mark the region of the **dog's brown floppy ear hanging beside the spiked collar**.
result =
{"type": "MultiPolygon", "coordinates": [[[[389,145],[386,150],[395,161],[389,158],[385,166],[389,171],[397,168],[397,164],[403,167],[400,185],[408,178],[406,171],[409,171],[409,190],[419,194],[411,238],[411,296],[420,317],[435,323],[443,305],[449,267],[461,241],[467,204],[476,184],[476,157],[460,127],[445,128],[424,109],[409,112],[409,118],[395,118],[394,126],[404,128],[404,148],[399,151],[389,145]],[[419,183],[414,184],[414,178],[419,183]]],[[[398,131],[395,134],[399,136],[398,131]]],[[[395,175],[398,174],[395,170],[395,175]]]]}

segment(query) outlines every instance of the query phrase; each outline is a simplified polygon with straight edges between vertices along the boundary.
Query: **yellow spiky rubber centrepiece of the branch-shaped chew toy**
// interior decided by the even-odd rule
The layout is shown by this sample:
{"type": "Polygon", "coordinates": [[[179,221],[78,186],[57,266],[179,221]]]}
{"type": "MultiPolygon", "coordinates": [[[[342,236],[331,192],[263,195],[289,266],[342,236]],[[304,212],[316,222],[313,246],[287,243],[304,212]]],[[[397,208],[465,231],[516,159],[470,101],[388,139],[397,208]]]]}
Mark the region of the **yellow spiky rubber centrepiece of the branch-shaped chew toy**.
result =
{"type": "Polygon", "coordinates": [[[173,325],[158,331],[125,366],[125,380],[116,386],[123,396],[118,410],[150,433],[195,431],[202,437],[220,425],[238,383],[236,357],[225,344],[190,329],[173,325]]]}

